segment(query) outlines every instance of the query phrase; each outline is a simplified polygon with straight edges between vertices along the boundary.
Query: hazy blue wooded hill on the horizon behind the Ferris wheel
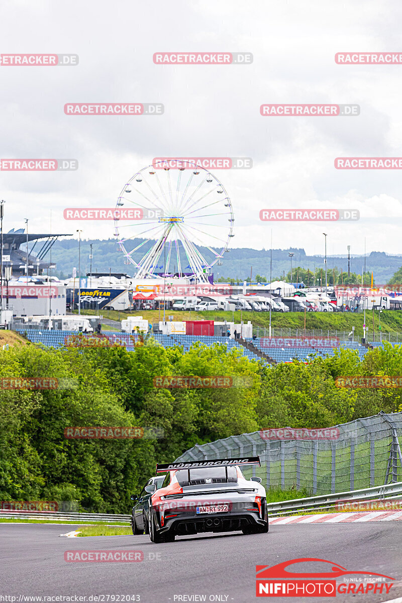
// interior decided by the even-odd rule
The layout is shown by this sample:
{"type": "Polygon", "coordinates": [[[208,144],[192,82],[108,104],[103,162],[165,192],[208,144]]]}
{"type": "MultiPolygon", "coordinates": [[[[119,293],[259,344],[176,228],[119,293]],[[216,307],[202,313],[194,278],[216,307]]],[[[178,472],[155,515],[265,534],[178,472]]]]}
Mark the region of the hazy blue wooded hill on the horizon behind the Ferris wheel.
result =
{"type": "MultiPolygon", "coordinates": [[[[140,239],[134,239],[131,242],[131,249],[136,247],[140,242],[140,239]]],[[[81,274],[86,274],[90,269],[90,244],[93,244],[93,260],[92,260],[92,271],[93,272],[124,272],[133,276],[134,266],[133,264],[125,264],[124,256],[119,250],[116,241],[113,239],[107,239],[105,241],[99,241],[98,239],[81,241],[81,274]]],[[[127,243],[126,243],[127,245],[127,243]]],[[[150,244],[143,245],[141,252],[137,251],[133,254],[134,259],[139,261],[145,251],[149,248],[150,244]]],[[[127,245],[127,248],[128,245],[127,245]]],[[[211,259],[211,252],[205,247],[199,247],[201,253],[203,253],[206,259],[211,259]]],[[[289,258],[289,251],[294,253],[292,260],[293,268],[300,266],[302,268],[309,268],[314,271],[315,268],[325,269],[324,257],[323,256],[307,256],[304,249],[290,248],[290,249],[274,249],[272,250],[272,279],[276,277],[283,277],[283,271],[287,274],[291,268],[291,261],[289,258]]],[[[214,275],[215,279],[219,277],[227,277],[230,279],[239,280],[250,277],[251,267],[253,267],[253,280],[257,274],[265,276],[269,280],[270,270],[270,250],[256,250],[251,248],[234,248],[228,253],[225,253],[225,257],[222,260],[222,265],[215,265],[214,275]]],[[[46,257],[49,260],[49,254],[46,257]]],[[[185,271],[187,265],[186,257],[181,257],[181,266],[185,271]]],[[[348,270],[348,258],[347,256],[329,256],[327,257],[328,271],[331,271],[334,267],[338,267],[339,270],[347,272],[348,270]]],[[[73,267],[77,267],[78,270],[78,241],[76,239],[63,239],[56,241],[52,247],[52,263],[57,265],[55,274],[57,276],[66,277],[70,276],[73,267]]],[[[364,256],[351,256],[350,259],[350,270],[360,274],[364,265],[364,256]]],[[[366,271],[374,272],[375,283],[383,284],[388,282],[393,274],[402,266],[402,256],[390,256],[383,251],[372,251],[366,256],[366,271]]],[[[174,261],[171,262],[171,269],[177,268],[174,266],[174,261]]],[[[163,260],[160,262],[160,269],[163,270],[163,260]]]]}

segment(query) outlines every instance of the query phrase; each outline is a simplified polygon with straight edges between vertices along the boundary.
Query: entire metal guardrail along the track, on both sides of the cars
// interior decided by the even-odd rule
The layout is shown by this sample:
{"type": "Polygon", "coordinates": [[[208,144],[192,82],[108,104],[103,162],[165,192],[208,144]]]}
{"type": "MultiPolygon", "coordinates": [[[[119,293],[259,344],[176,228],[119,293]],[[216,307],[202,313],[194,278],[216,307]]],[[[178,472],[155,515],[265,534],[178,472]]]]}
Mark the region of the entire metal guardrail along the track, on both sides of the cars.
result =
{"type": "MultiPolygon", "coordinates": [[[[402,482],[393,482],[374,488],[365,488],[363,490],[350,490],[348,492],[338,492],[335,494],[322,494],[321,496],[311,496],[309,498],[297,498],[292,500],[282,500],[280,502],[270,502],[268,513],[270,517],[286,515],[289,513],[298,513],[299,511],[318,511],[328,509],[337,503],[357,502],[363,500],[392,501],[402,495],[402,482]]],[[[130,522],[130,515],[113,515],[110,513],[48,513],[30,511],[7,511],[0,510],[0,519],[52,519],[55,521],[90,521],[90,522],[130,522]]]]}

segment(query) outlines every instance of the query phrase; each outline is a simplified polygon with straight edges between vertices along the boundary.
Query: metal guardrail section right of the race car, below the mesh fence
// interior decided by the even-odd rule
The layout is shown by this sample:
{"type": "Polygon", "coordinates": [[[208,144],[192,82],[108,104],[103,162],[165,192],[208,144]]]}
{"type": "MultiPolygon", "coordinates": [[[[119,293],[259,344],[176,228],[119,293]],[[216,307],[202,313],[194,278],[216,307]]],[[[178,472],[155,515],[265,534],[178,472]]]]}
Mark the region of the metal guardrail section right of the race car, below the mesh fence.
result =
{"type": "Polygon", "coordinates": [[[282,502],[270,502],[268,513],[270,516],[281,516],[298,511],[318,511],[327,509],[337,503],[357,502],[362,500],[392,500],[392,497],[402,494],[402,482],[394,482],[383,486],[365,488],[363,490],[350,490],[348,492],[337,492],[334,494],[322,494],[309,498],[298,498],[283,500],[282,502]],[[388,496],[388,498],[385,498],[388,496]]]}

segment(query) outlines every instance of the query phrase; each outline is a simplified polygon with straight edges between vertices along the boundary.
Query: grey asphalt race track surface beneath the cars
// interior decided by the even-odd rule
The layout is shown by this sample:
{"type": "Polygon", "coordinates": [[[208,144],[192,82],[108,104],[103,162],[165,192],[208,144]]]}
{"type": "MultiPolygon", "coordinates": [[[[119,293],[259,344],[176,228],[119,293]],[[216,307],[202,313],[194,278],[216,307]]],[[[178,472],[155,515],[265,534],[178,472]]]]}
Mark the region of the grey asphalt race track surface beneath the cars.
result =
{"type": "MultiPolygon", "coordinates": [[[[152,544],[145,535],[59,537],[73,529],[75,526],[72,525],[2,523],[0,595],[16,596],[16,602],[20,595],[86,595],[86,601],[95,601],[95,598],[88,599],[90,595],[105,595],[98,599],[101,603],[113,601],[107,595],[116,595],[114,601],[118,601],[118,595],[139,595],[139,599],[131,600],[142,603],[248,603],[263,600],[256,598],[257,564],[272,566],[295,558],[313,557],[340,564],[348,570],[371,570],[395,578],[388,595],[385,590],[383,594],[375,595],[337,593],[336,601],[366,603],[402,596],[402,522],[273,525],[269,534],[245,536],[236,532],[181,537],[163,545],[152,544]],[[142,551],[143,561],[64,561],[64,551],[77,549],[142,551]],[[202,595],[206,598],[201,598],[202,595]]],[[[334,599],[271,596],[269,600],[334,599]]]]}

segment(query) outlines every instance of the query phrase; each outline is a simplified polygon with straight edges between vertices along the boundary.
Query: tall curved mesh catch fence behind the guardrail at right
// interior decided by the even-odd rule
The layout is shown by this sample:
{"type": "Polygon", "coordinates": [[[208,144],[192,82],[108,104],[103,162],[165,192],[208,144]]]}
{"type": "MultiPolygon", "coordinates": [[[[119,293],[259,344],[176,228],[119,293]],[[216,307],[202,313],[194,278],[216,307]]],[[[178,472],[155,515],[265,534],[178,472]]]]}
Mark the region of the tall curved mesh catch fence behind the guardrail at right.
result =
{"type": "Polygon", "coordinates": [[[380,412],[333,428],[269,429],[196,444],[176,459],[260,456],[246,468],[266,488],[306,488],[312,494],[359,490],[402,481],[402,412],[380,412]]]}

